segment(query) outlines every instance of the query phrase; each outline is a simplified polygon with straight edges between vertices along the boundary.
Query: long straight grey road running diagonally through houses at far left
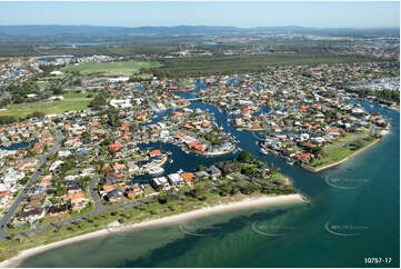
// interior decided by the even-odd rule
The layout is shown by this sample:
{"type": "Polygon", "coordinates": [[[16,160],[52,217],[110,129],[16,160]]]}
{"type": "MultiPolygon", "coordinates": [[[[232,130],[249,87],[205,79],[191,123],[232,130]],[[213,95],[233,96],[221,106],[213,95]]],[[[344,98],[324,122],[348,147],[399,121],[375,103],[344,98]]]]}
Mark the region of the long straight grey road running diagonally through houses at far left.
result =
{"type": "Polygon", "coordinates": [[[12,216],[16,213],[17,209],[19,208],[22,199],[27,196],[28,191],[31,189],[32,185],[34,183],[34,181],[39,178],[40,173],[42,172],[42,168],[43,166],[48,162],[48,158],[51,155],[54,155],[59,149],[60,149],[60,143],[62,140],[62,133],[56,129],[56,134],[57,134],[57,141],[56,145],[53,146],[53,148],[49,151],[48,155],[43,156],[41,159],[41,165],[38,167],[38,169],[34,171],[34,173],[32,175],[31,179],[26,183],[26,186],[23,187],[23,189],[20,191],[20,193],[17,196],[16,200],[13,201],[13,203],[11,205],[11,207],[9,208],[9,210],[7,211],[7,213],[4,213],[4,216],[1,218],[0,220],[0,240],[1,239],[6,239],[8,238],[8,233],[7,231],[4,231],[4,227],[10,221],[10,219],[12,218],[12,216]]]}

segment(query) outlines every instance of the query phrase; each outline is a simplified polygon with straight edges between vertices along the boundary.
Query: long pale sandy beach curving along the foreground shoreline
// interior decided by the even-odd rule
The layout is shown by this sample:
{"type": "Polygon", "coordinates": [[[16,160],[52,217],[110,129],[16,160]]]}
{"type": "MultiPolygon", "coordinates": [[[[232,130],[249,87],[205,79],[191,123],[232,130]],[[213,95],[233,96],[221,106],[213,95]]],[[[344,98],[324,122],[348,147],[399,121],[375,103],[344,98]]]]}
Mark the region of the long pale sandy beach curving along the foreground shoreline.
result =
{"type": "Polygon", "coordinates": [[[297,202],[304,202],[300,195],[289,195],[289,196],[263,196],[258,198],[245,198],[241,201],[230,202],[225,205],[218,205],[213,207],[205,207],[198,210],[193,210],[186,213],[180,213],[176,216],[170,216],[161,219],[149,220],[140,223],[129,225],[129,226],[118,226],[111,225],[107,229],[102,229],[99,231],[90,232],[87,235],[69,238],[66,240],[61,240],[58,242],[52,242],[44,246],[39,246],[32,249],[27,249],[21,251],[18,256],[4,260],[0,262],[0,267],[2,268],[10,268],[10,267],[18,267],[24,259],[38,255],[43,251],[48,251],[54,248],[59,248],[66,245],[79,242],[82,240],[89,240],[98,237],[110,236],[113,232],[122,232],[127,230],[138,229],[138,228],[146,228],[146,227],[154,227],[154,226],[162,226],[162,225],[171,225],[171,223],[180,223],[188,221],[190,219],[197,219],[204,216],[210,216],[213,213],[221,213],[228,211],[234,211],[240,209],[247,208],[257,208],[263,206],[275,206],[275,205],[285,205],[285,203],[297,203],[297,202]]]}

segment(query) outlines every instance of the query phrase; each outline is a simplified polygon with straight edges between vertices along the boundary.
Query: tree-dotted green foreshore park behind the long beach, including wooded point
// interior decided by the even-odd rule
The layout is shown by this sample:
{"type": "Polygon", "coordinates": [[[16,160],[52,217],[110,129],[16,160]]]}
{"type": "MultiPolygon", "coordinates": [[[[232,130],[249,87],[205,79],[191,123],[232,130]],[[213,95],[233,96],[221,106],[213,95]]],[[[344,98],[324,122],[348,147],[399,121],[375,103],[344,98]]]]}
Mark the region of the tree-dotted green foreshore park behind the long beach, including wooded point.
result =
{"type": "MultiPolygon", "coordinates": [[[[33,235],[31,235],[28,227],[24,227],[24,235],[20,232],[20,229],[18,229],[18,231],[17,229],[10,231],[10,239],[0,241],[0,259],[4,260],[16,256],[22,249],[48,245],[67,238],[101,230],[116,221],[123,225],[133,225],[189,212],[204,207],[234,202],[243,200],[244,198],[260,197],[262,193],[290,195],[297,192],[291,186],[288,186],[284,182],[272,182],[270,179],[265,178],[264,173],[258,176],[258,172],[255,172],[257,169],[267,168],[265,163],[255,160],[254,157],[250,155],[240,153],[240,159],[245,160],[227,161],[225,163],[217,165],[225,166],[224,171],[228,172],[227,176],[230,176],[231,178],[234,175],[241,173],[238,175],[238,179],[232,181],[223,180],[222,177],[220,177],[220,180],[203,180],[196,182],[196,189],[181,190],[172,196],[161,191],[161,193],[150,203],[116,209],[97,216],[89,216],[86,219],[82,218],[81,220],[76,220],[73,223],[54,226],[50,229],[36,231],[33,235]],[[230,168],[230,166],[232,166],[232,168],[230,168]],[[241,167],[243,169],[239,171],[239,168],[241,167]],[[258,185],[253,185],[251,181],[257,181],[258,185]],[[220,188],[215,188],[215,185],[220,186],[220,188]]],[[[283,176],[280,173],[272,175],[272,178],[275,178],[277,181],[283,181],[283,176]]]]}

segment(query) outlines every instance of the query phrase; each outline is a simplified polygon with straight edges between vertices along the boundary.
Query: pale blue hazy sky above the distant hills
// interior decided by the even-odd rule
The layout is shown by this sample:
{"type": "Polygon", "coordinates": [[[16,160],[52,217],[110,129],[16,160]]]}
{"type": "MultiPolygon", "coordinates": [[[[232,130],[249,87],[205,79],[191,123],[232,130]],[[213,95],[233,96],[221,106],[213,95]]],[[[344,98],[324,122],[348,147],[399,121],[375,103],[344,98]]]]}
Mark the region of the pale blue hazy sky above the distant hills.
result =
{"type": "Polygon", "coordinates": [[[0,2],[0,24],[400,27],[400,2],[0,2]]]}

